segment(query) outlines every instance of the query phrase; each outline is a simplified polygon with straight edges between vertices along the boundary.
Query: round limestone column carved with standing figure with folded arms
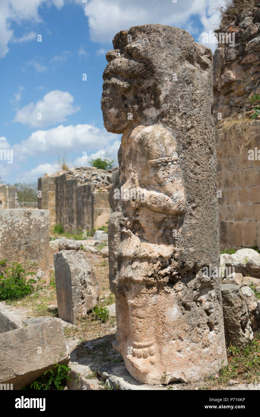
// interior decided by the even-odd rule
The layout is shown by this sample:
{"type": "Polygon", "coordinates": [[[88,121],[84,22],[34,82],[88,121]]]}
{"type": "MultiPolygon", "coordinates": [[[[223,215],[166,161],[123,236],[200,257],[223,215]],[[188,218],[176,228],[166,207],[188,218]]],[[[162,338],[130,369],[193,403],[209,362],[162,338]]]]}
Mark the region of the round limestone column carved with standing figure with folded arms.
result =
{"type": "Polygon", "coordinates": [[[212,53],[164,25],[113,44],[101,107],[106,129],[123,133],[109,195],[114,347],[140,382],[197,381],[227,361],[220,280],[202,275],[220,265],[212,53]],[[133,188],[145,198],[127,199],[133,188]]]}

